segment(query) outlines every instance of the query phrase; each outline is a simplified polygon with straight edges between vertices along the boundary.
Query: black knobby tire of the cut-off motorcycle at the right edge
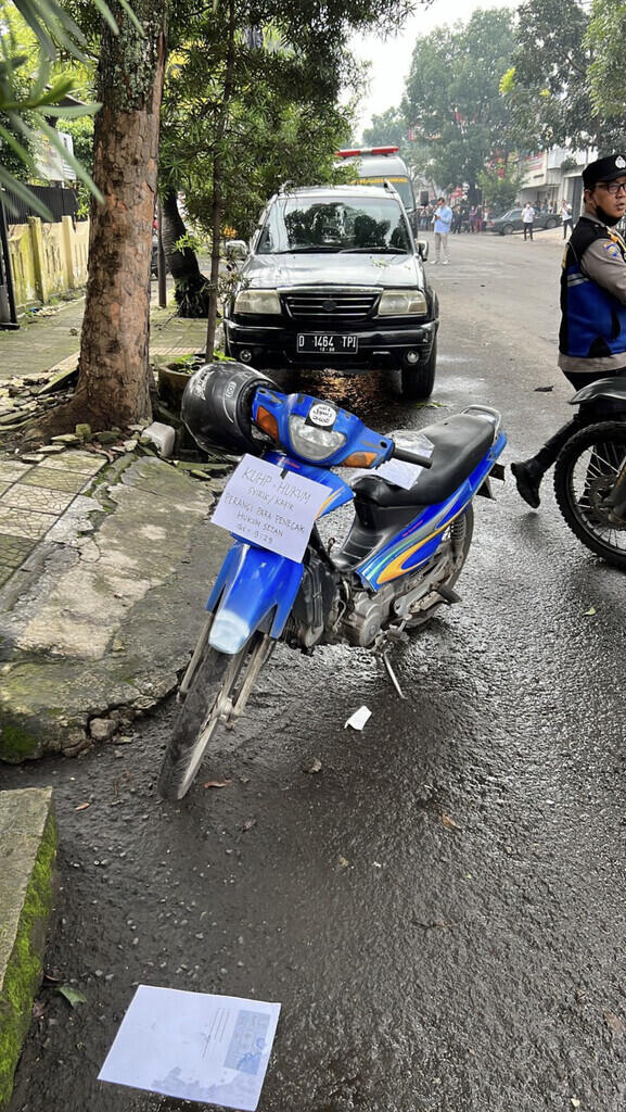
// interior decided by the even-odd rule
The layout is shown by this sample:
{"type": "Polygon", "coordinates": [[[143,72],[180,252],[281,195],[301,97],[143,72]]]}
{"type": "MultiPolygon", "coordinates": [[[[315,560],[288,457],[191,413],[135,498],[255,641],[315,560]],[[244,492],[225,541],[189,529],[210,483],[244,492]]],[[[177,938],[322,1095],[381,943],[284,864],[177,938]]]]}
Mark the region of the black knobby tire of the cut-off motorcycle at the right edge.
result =
{"type": "MultiPolygon", "coordinates": [[[[618,527],[612,528],[608,522],[603,523],[602,507],[599,507],[599,513],[596,512],[594,514],[590,504],[593,494],[589,495],[587,492],[593,456],[587,465],[582,464],[582,457],[586,451],[592,451],[594,455],[599,454],[600,457],[604,454],[606,460],[613,458],[616,468],[623,466],[626,458],[626,423],[602,421],[580,429],[562,448],[556,461],[554,476],[558,508],[572,532],[587,548],[596,553],[597,556],[602,556],[603,559],[608,564],[613,564],[614,567],[626,570],[626,525],[622,529],[618,527]],[[575,490],[577,464],[582,464],[583,468],[587,467],[585,487],[580,498],[576,497],[575,490]],[[589,505],[585,505],[585,499],[589,505]],[[616,538],[613,544],[610,539],[607,539],[612,535],[616,538]],[[618,544],[619,537],[623,538],[622,546],[618,544]]],[[[598,487],[602,484],[603,477],[598,469],[598,475],[594,477],[598,487]]],[[[605,494],[610,487],[610,476],[607,475],[606,481],[608,485],[606,490],[604,490],[605,494]]],[[[603,490],[599,488],[598,495],[602,495],[602,493],[603,490]]]]}

